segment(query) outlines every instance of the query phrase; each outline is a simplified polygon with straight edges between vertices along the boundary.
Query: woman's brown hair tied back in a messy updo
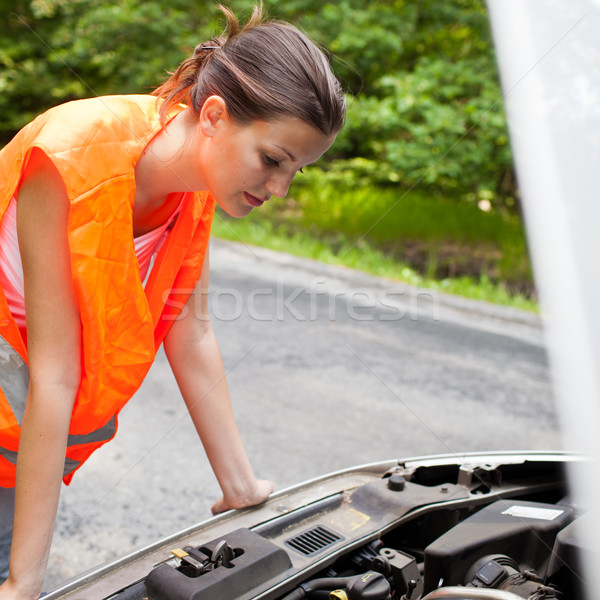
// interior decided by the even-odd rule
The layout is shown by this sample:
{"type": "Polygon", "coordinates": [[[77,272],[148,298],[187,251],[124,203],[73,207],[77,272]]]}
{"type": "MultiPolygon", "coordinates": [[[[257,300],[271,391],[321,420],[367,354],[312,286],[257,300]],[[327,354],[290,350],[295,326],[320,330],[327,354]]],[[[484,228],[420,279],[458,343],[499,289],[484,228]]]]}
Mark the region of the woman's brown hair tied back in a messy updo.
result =
{"type": "Polygon", "coordinates": [[[262,5],[240,29],[222,5],[228,28],[198,44],[194,54],[153,93],[163,98],[161,118],[178,103],[198,116],[210,96],[221,96],[240,124],[294,116],[325,135],[344,124],[346,105],[325,54],[302,32],[282,21],[264,21],[262,5]]]}

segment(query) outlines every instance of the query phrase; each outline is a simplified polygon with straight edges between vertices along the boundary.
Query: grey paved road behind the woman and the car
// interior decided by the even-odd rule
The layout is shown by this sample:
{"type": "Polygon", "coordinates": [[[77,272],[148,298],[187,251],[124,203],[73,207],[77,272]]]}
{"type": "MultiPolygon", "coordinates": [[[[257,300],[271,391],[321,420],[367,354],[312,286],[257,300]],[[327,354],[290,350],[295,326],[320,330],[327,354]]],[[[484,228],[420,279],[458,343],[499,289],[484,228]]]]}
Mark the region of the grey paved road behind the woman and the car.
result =
{"type": "MultiPolygon", "coordinates": [[[[537,318],[347,269],[212,246],[213,323],[260,477],[556,449],[537,318]]],[[[205,519],[218,487],[164,355],[63,490],[47,586],[205,519]]]]}

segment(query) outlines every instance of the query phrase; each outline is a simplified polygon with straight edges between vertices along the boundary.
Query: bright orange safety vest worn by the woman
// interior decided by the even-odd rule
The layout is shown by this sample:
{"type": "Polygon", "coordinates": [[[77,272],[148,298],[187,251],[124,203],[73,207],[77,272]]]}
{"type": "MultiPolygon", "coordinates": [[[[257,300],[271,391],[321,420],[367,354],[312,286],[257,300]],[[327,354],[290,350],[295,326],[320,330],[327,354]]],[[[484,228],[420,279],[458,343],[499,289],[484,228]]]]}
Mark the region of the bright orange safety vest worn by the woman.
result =
{"type": "MultiPolygon", "coordinates": [[[[134,168],[160,131],[153,96],[107,96],[50,109],[0,152],[0,218],[18,191],[32,148],[62,176],[68,241],[82,323],[82,379],[69,428],[63,480],[116,433],[117,415],[200,278],[215,201],[185,194],[152,267],[140,280],[133,242],[134,168]]],[[[169,119],[183,110],[177,107],[169,119]]],[[[26,332],[0,289],[0,486],[15,483],[28,384],[26,332]]]]}

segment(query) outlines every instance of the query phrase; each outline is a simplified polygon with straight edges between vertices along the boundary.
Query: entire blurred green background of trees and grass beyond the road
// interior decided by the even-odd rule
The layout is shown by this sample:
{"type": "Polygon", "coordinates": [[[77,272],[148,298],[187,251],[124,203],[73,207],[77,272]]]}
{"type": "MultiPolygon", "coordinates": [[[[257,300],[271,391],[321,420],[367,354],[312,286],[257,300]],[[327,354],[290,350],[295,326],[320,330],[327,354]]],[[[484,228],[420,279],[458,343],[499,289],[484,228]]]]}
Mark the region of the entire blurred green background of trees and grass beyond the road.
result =
{"type": "MultiPolygon", "coordinates": [[[[243,20],[251,1],[228,6],[243,20]]],[[[535,309],[484,2],[265,0],[333,55],[347,125],[285,200],[215,234],[535,309]]],[[[0,144],[74,98],[149,93],[212,1],[0,0],[0,144]]]]}

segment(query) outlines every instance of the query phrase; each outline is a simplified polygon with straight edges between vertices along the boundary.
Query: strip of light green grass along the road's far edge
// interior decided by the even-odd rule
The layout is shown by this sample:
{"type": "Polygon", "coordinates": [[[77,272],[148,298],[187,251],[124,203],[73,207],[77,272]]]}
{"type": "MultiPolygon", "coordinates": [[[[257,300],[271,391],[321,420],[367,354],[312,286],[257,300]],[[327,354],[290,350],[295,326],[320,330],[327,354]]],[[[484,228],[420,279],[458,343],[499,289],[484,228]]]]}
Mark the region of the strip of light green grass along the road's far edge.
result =
{"type": "MultiPolygon", "coordinates": [[[[436,213],[432,210],[422,213],[421,222],[427,220],[423,217],[424,214],[435,215],[436,213]]],[[[429,277],[426,274],[418,273],[389,252],[377,248],[368,236],[360,237],[357,235],[358,232],[352,228],[350,228],[350,233],[347,231],[341,233],[341,227],[338,227],[336,232],[328,231],[327,228],[319,228],[314,223],[303,224],[304,218],[299,218],[294,202],[284,204],[283,201],[275,199],[245,219],[232,219],[219,211],[215,216],[213,235],[222,239],[242,241],[251,245],[312,258],[324,263],[343,265],[447,294],[537,311],[537,303],[534,300],[521,294],[510,293],[505,285],[494,283],[486,274],[477,278],[472,276],[443,279],[429,277]],[[278,202],[279,206],[277,206],[278,202]]],[[[438,227],[437,217],[434,222],[436,223],[435,227],[426,232],[429,235],[428,242],[435,239],[433,232],[438,227]]],[[[424,225],[421,227],[424,228],[424,225]]],[[[331,228],[333,229],[333,226],[331,228]]],[[[394,235],[399,235],[397,230],[393,231],[394,235]]],[[[442,229],[438,228],[437,231],[441,232],[442,229]]],[[[497,230],[493,228],[482,231],[488,238],[498,235],[497,230]]],[[[479,236],[480,239],[481,237],[479,236]]]]}

